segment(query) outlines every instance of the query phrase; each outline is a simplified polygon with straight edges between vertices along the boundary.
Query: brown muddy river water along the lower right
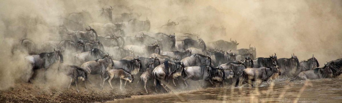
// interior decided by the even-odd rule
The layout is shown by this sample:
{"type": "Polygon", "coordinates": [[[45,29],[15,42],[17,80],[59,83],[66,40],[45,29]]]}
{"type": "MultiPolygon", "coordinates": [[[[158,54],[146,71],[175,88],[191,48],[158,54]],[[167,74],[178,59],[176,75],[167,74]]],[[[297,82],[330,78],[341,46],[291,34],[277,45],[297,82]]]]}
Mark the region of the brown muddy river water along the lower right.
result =
{"type": "Polygon", "coordinates": [[[135,96],[110,103],[155,102],[342,102],[342,79],[278,80],[260,87],[227,87],[135,96]]]}

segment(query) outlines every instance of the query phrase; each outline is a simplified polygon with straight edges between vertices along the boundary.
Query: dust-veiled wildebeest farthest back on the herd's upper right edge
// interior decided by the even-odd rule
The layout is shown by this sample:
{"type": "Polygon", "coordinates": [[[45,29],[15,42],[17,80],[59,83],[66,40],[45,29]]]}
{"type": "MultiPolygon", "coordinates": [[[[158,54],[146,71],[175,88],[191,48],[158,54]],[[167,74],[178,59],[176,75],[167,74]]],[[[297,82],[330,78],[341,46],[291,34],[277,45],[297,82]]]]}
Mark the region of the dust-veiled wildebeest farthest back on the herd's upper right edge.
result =
{"type": "Polygon", "coordinates": [[[232,41],[232,38],[230,40],[231,42],[227,42],[224,40],[218,40],[218,41],[214,41],[214,42],[208,42],[207,46],[209,49],[214,49],[214,48],[222,48],[222,50],[224,51],[228,51],[228,50],[236,50],[237,45],[239,45],[239,43],[235,41],[232,41]]]}

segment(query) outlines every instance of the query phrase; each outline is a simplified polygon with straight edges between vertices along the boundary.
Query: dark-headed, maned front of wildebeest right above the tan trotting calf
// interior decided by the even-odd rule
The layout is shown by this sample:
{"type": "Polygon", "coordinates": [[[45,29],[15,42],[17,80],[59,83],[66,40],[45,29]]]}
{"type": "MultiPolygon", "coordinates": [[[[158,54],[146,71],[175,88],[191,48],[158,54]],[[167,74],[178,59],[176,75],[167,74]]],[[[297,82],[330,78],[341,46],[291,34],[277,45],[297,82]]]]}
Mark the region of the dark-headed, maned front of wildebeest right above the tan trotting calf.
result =
{"type": "Polygon", "coordinates": [[[141,63],[136,63],[137,59],[133,59],[133,60],[120,60],[120,65],[118,65],[119,67],[122,67],[122,69],[129,71],[132,74],[137,74],[139,72],[139,70],[142,68],[142,64],[141,63]]]}

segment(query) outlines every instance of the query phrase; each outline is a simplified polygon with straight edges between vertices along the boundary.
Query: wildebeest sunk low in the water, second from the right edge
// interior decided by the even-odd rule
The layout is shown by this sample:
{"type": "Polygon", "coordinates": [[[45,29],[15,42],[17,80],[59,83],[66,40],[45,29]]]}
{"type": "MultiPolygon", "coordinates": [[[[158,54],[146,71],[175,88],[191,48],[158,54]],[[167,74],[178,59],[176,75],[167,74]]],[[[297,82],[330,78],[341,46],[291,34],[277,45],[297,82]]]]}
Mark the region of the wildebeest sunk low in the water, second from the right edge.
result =
{"type": "Polygon", "coordinates": [[[294,80],[314,80],[314,79],[321,79],[321,78],[332,78],[333,72],[331,68],[325,67],[323,68],[315,68],[313,70],[303,71],[298,74],[297,77],[291,79],[290,81],[294,80]]]}

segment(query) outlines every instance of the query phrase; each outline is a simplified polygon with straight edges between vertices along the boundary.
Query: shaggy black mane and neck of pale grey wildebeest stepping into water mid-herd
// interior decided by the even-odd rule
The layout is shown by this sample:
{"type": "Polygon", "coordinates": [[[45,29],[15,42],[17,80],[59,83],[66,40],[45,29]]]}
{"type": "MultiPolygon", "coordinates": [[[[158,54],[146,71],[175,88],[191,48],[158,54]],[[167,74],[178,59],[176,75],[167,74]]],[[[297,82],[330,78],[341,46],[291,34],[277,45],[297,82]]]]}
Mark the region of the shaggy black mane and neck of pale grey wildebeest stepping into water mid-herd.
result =
{"type": "MultiPolygon", "coordinates": [[[[205,80],[209,80],[212,79],[212,77],[217,76],[217,73],[219,72],[218,68],[213,68],[209,65],[201,65],[200,66],[200,77],[202,77],[201,79],[203,79],[204,76],[207,76],[206,78],[204,78],[205,80]]],[[[225,73],[223,72],[223,78],[225,77],[225,73]]],[[[219,79],[219,81],[221,81],[221,79],[219,79]]]]}

